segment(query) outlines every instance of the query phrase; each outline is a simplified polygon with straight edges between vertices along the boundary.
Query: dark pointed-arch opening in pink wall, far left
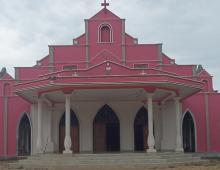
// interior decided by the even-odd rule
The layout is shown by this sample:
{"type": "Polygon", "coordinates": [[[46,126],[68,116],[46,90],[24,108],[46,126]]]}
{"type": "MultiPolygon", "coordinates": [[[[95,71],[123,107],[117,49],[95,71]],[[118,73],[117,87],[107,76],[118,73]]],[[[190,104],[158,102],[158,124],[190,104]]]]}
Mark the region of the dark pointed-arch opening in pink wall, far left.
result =
{"type": "Polygon", "coordinates": [[[31,154],[31,125],[29,118],[25,114],[19,124],[18,132],[18,155],[31,154]]]}

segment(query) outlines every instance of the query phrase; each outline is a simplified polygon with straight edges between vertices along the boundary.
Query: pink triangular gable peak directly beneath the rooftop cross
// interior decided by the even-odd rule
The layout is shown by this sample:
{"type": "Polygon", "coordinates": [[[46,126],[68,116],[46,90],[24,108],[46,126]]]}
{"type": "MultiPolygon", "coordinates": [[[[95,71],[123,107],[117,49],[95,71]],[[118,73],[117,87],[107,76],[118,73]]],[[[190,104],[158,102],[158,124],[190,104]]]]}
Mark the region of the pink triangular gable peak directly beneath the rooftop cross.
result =
{"type": "Polygon", "coordinates": [[[96,19],[121,19],[111,11],[106,8],[100,10],[97,14],[91,17],[89,20],[96,20],[96,19]]]}

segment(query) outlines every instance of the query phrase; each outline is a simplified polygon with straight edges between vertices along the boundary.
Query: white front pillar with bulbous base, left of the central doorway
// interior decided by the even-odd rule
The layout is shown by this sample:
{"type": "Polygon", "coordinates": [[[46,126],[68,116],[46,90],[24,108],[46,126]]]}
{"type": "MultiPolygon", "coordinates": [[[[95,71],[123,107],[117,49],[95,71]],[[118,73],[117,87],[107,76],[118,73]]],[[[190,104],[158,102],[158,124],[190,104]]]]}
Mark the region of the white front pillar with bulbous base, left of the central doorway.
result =
{"type": "Polygon", "coordinates": [[[71,137],[70,137],[70,97],[71,94],[66,94],[65,98],[66,98],[66,119],[65,119],[65,139],[64,139],[64,147],[65,150],[63,151],[64,154],[72,154],[71,151],[71,146],[72,146],[72,141],[71,141],[71,137]]]}

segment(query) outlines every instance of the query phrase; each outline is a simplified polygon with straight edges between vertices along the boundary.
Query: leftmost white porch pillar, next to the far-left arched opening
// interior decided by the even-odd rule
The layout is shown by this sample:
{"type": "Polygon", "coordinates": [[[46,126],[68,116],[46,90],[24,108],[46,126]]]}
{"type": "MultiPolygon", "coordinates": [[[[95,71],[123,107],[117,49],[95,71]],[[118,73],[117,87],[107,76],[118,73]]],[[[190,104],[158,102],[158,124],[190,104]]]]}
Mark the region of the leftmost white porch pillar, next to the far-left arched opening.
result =
{"type": "Polygon", "coordinates": [[[37,103],[37,153],[43,153],[42,147],[42,104],[43,100],[38,98],[37,103]]]}

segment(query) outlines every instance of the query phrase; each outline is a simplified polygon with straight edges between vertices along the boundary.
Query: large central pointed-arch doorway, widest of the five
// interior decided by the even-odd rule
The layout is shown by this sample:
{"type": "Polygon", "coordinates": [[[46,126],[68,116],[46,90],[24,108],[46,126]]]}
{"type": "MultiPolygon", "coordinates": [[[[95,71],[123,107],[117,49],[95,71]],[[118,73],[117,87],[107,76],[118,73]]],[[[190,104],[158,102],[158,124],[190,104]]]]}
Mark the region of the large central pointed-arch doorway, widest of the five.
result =
{"type": "Polygon", "coordinates": [[[94,152],[120,151],[120,123],[117,115],[108,106],[103,106],[93,121],[94,152]]]}

